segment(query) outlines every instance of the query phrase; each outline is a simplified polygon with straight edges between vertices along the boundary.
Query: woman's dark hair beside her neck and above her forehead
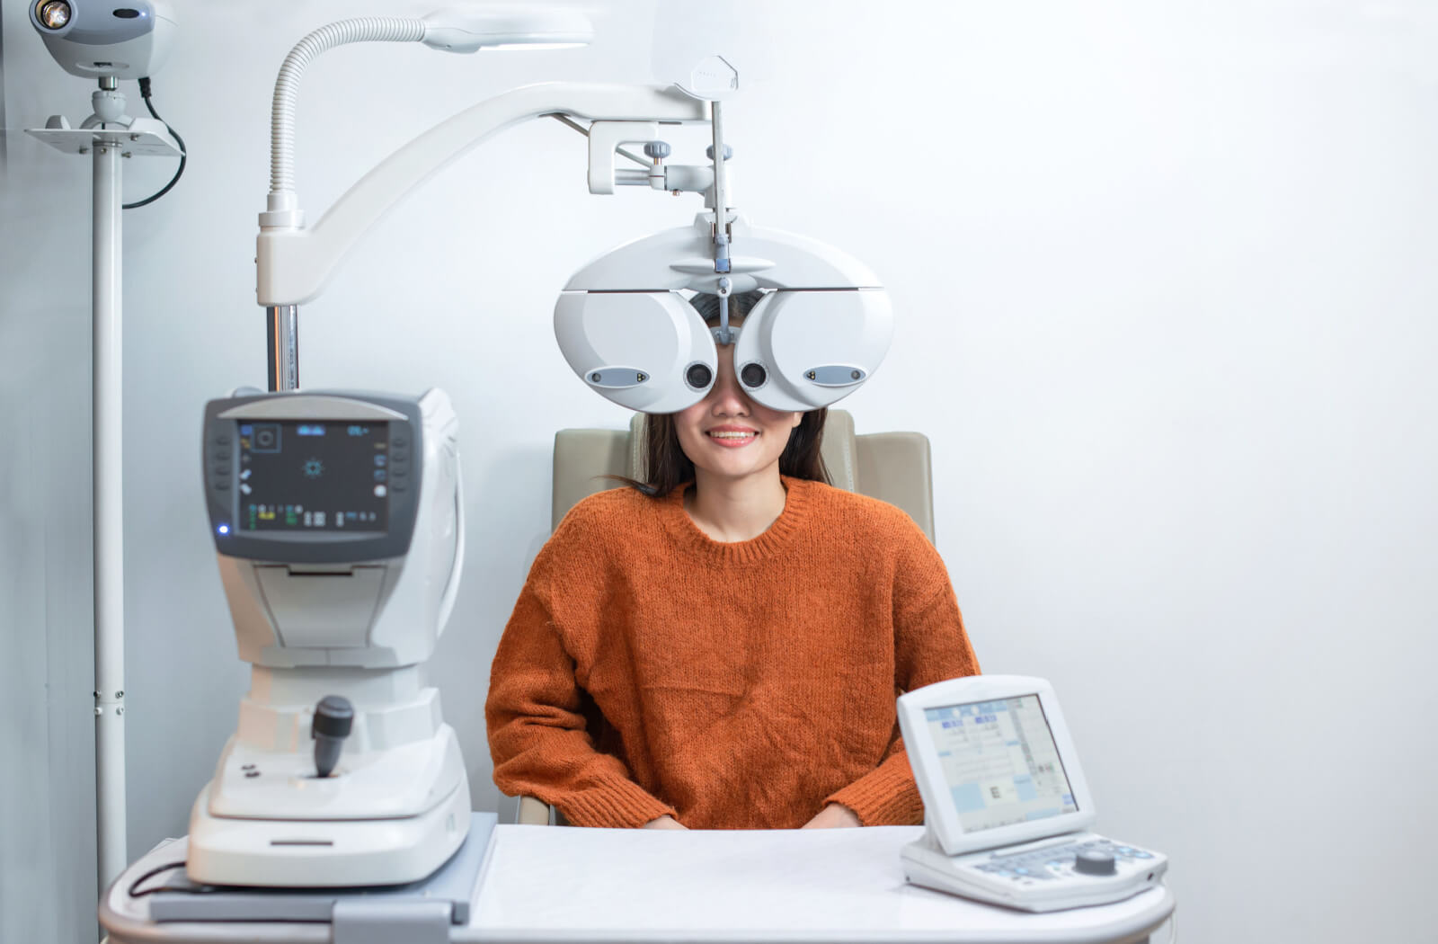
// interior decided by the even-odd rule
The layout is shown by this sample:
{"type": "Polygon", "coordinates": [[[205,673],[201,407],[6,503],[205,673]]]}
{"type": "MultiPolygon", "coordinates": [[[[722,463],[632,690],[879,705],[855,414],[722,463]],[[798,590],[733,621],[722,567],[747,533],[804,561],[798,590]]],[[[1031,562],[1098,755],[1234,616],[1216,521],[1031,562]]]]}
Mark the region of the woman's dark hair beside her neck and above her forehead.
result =
{"type": "MultiPolygon", "coordinates": [[[[759,301],[761,292],[743,292],[731,296],[729,305],[735,317],[742,318],[759,301]]],[[[719,322],[719,298],[715,295],[695,295],[690,304],[699,315],[710,325],[719,322]]],[[[827,409],[808,410],[800,425],[789,432],[789,442],[779,456],[779,475],[795,479],[811,479],[833,485],[828,469],[824,468],[824,456],[820,446],[824,443],[824,420],[828,417],[827,409]]],[[[661,498],[683,485],[695,481],[695,463],[684,455],[679,445],[679,430],[670,413],[650,413],[644,417],[644,452],[641,453],[643,482],[613,475],[646,495],[661,498]]]]}

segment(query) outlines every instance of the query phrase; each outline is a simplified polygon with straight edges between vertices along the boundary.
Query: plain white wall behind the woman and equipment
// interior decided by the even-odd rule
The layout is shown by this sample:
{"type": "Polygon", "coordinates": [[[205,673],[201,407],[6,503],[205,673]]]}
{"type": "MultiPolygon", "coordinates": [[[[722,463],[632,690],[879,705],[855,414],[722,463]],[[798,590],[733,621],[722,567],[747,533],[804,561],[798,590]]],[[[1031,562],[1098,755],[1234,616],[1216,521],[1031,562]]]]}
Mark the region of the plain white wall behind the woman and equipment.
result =
{"type": "MultiPolygon", "coordinates": [[[[702,4],[613,6],[597,12],[600,42],[574,53],[324,56],[299,105],[312,219],[473,101],[539,79],[647,81],[651,33],[661,53],[697,45],[682,24],[702,4]]],[[[939,550],[985,669],[1055,682],[1102,826],[1172,856],[1185,938],[1431,935],[1438,12],[729,6],[723,42],[759,79],[726,112],[739,203],[886,279],[894,348],[844,406],[860,430],[932,437],[939,550]]],[[[183,45],[155,78],[191,160],[173,194],[125,217],[132,855],[184,832],[246,682],[196,436],[206,399],[265,383],[250,259],[275,71],[311,27],[395,10],[424,7],[186,3],[183,45]]],[[[83,117],[89,88],[49,62],[23,4],[3,14],[0,312],[7,353],[30,344],[0,371],[4,403],[55,384],[73,400],[59,422],[4,410],[6,439],[36,462],[0,465],[6,521],[63,525],[73,543],[88,504],[73,486],[89,463],[75,397],[89,171],[13,130],[83,117]]],[[[555,122],[490,142],[387,219],[301,314],[303,386],[440,386],[456,401],[472,557],[433,678],[480,807],[498,802],[487,666],[548,532],[552,433],[627,420],[568,373],[555,292],[594,255],[695,212],[692,197],[590,197],[582,155],[555,122]]],[[[168,178],[161,161],[127,171],[131,199],[168,178]]],[[[42,566],[30,534],[6,527],[7,570],[45,568],[6,581],[7,616],[60,597],[73,610],[85,557],[42,566]]],[[[73,612],[45,619],[49,652],[86,691],[47,715],[26,704],[16,732],[73,727],[89,708],[88,666],[73,671],[88,630],[73,612]]],[[[22,640],[13,673],[59,671],[29,623],[6,630],[22,640]]],[[[88,745],[14,743],[32,767],[88,763],[88,745]]],[[[66,853],[76,882],[86,853],[66,853]]],[[[3,888],[50,884],[0,863],[3,888]]],[[[0,937],[86,901],[66,888],[59,905],[7,895],[0,937]]]]}

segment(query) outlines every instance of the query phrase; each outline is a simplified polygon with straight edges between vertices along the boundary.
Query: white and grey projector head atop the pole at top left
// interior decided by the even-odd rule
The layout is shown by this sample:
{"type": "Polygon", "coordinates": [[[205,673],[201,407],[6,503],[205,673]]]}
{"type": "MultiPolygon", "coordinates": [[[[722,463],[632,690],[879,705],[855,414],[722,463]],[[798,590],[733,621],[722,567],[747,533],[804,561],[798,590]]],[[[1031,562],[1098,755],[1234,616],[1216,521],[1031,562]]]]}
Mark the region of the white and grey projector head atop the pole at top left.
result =
{"type": "Polygon", "coordinates": [[[170,56],[165,0],[30,0],[30,24],[60,68],[86,79],[141,79],[170,56]]]}

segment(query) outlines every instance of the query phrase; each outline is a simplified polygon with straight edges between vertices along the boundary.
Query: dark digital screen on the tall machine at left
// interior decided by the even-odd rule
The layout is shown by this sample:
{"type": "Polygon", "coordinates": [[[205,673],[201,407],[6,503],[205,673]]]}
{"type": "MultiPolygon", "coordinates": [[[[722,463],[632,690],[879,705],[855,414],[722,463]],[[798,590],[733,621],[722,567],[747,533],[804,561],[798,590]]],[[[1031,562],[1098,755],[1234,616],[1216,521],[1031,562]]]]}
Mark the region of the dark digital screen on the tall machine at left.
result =
{"type": "Polygon", "coordinates": [[[242,534],[388,531],[388,423],[244,420],[239,433],[242,534]]]}

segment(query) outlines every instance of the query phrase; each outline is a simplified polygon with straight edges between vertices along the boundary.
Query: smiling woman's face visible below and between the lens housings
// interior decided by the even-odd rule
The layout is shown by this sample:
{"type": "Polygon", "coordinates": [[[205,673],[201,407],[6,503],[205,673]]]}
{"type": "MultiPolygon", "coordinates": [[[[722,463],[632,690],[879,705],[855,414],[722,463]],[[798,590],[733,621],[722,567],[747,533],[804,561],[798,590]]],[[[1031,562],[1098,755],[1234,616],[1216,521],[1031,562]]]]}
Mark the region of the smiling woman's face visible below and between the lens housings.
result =
{"type": "Polygon", "coordinates": [[[755,403],[733,373],[733,345],[719,347],[719,376],[705,399],[674,413],[684,455],[700,473],[726,479],[778,473],[779,456],[802,413],[781,413],[755,403]]]}

